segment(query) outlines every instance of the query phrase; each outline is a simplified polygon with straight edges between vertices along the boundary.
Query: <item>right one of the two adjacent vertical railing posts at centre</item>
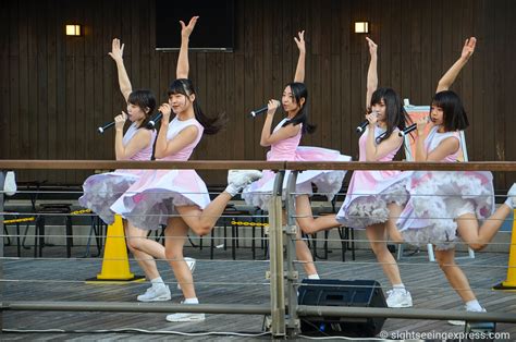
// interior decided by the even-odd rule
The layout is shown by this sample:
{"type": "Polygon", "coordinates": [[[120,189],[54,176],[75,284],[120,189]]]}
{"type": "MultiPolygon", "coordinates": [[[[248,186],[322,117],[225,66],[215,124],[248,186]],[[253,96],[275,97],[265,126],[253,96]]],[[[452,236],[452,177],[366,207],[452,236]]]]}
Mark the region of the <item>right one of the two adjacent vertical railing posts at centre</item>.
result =
{"type": "Polygon", "coordinates": [[[296,241],[297,241],[297,225],[296,225],[296,181],[297,172],[291,171],[288,174],[285,196],[286,209],[286,303],[288,307],[288,316],[286,328],[288,338],[295,338],[300,332],[299,318],[297,316],[297,283],[299,276],[295,267],[296,260],[296,241]]]}

